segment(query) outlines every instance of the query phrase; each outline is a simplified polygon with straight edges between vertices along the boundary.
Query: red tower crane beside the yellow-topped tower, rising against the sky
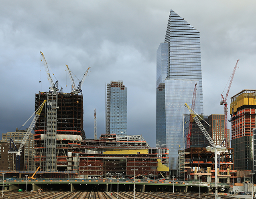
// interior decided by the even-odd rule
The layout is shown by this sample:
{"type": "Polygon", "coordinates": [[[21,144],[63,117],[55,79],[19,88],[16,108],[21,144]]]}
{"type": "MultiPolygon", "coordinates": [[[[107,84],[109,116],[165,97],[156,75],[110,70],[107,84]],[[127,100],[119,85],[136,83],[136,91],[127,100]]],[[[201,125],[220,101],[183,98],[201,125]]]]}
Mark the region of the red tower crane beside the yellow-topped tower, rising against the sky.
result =
{"type": "Polygon", "coordinates": [[[229,140],[229,137],[228,137],[228,107],[227,107],[227,99],[228,99],[228,94],[230,92],[230,87],[231,87],[231,84],[232,84],[232,81],[233,81],[233,78],[234,78],[234,75],[235,75],[235,72],[236,72],[236,67],[237,67],[238,61],[239,60],[237,60],[236,66],[234,67],[234,70],[233,70],[231,78],[230,78],[230,84],[228,86],[228,90],[227,90],[227,93],[226,93],[226,98],[224,99],[223,95],[221,94],[222,100],[220,101],[220,105],[224,104],[224,136],[225,136],[224,139],[226,140],[226,145],[225,145],[226,147],[228,147],[228,140],[229,140]]]}

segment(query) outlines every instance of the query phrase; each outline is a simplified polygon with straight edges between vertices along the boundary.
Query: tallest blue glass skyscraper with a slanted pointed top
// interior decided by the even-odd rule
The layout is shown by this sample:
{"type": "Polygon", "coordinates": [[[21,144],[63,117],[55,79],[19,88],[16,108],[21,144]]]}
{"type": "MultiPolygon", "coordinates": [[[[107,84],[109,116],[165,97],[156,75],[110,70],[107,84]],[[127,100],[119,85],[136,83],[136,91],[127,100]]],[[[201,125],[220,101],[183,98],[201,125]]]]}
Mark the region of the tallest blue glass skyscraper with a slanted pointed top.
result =
{"type": "Polygon", "coordinates": [[[156,147],[169,148],[170,169],[176,170],[179,147],[185,147],[184,104],[191,106],[197,83],[194,110],[203,114],[203,90],[199,32],[173,10],[156,63],[156,147]]]}

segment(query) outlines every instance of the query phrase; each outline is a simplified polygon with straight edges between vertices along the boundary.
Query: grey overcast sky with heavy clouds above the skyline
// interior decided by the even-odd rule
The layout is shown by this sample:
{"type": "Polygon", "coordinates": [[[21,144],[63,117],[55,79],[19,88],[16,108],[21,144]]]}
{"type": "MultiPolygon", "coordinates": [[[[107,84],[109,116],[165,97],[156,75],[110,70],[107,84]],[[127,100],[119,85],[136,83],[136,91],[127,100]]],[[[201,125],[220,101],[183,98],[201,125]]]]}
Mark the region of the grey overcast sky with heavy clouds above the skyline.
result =
{"type": "Polygon", "coordinates": [[[228,107],[230,97],[256,89],[256,1],[3,0],[0,137],[20,129],[35,110],[35,94],[49,90],[42,51],[63,92],[71,92],[65,64],[78,78],[91,67],[82,86],[87,138],[94,137],[94,108],[98,137],[104,133],[106,83],[122,80],[127,132],[155,147],[156,50],[171,9],[200,32],[205,115],[223,114],[219,101],[238,59],[228,107]]]}

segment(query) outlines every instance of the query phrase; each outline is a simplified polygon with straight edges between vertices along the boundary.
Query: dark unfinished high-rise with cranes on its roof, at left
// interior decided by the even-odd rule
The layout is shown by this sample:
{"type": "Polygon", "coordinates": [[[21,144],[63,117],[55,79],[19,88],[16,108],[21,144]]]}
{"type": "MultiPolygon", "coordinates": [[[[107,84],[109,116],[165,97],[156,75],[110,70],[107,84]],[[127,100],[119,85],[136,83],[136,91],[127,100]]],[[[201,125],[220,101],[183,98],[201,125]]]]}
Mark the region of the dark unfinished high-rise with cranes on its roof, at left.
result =
{"type": "Polygon", "coordinates": [[[78,171],[73,157],[79,154],[78,145],[85,139],[83,131],[83,95],[39,92],[37,109],[47,100],[35,124],[35,160],[44,171],[78,171]]]}

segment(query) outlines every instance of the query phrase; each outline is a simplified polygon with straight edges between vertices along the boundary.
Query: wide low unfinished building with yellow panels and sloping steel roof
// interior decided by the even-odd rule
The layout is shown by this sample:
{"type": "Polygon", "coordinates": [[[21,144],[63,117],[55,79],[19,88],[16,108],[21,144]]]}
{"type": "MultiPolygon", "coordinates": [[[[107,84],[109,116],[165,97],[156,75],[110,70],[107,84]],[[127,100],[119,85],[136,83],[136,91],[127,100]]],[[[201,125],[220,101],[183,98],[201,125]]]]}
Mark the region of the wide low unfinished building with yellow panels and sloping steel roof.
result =
{"type": "Polygon", "coordinates": [[[101,135],[98,140],[81,144],[79,176],[132,178],[133,168],[139,178],[168,178],[169,150],[152,149],[141,135],[101,135]]]}

